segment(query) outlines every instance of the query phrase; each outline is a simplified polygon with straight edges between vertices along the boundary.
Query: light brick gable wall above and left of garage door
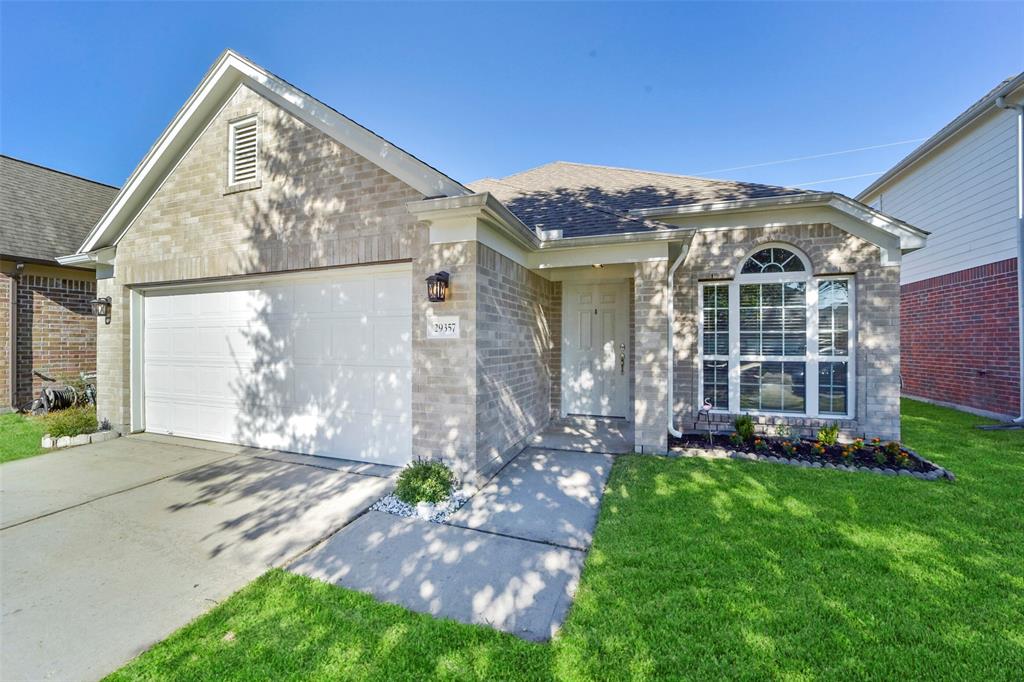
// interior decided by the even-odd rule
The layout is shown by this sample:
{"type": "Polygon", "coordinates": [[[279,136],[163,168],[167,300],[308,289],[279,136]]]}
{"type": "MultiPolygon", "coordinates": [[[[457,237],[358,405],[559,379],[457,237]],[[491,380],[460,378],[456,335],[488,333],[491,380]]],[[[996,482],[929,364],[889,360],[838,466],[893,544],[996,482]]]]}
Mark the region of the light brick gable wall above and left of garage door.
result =
{"type": "MultiPolygon", "coordinates": [[[[240,87],[132,222],[118,245],[117,279],[100,285],[115,300],[112,324],[98,328],[100,416],[129,423],[127,287],[429,260],[426,225],[406,208],[419,199],[373,162],[240,87]],[[254,113],[260,181],[232,191],[228,122],[254,113]]],[[[414,263],[417,273],[427,269],[414,263]]],[[[413,297],[414,328],[422,327],[415,306],[423,287],[414,286],[413,297]]]]}

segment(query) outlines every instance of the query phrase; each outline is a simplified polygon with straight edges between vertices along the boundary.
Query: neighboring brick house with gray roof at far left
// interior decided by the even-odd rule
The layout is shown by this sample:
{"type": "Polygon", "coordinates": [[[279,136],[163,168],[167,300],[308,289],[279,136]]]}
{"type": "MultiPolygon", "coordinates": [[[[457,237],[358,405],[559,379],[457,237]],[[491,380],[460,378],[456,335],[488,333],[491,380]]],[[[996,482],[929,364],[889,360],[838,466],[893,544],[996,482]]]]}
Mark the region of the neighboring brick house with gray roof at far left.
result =
{"type": "Polygon", "coordinates": [[[96,369],[96,273],[60,265],[118,194],[85,178],[0,156],[0,410],[38,396],[41,372],[96,369]]]}

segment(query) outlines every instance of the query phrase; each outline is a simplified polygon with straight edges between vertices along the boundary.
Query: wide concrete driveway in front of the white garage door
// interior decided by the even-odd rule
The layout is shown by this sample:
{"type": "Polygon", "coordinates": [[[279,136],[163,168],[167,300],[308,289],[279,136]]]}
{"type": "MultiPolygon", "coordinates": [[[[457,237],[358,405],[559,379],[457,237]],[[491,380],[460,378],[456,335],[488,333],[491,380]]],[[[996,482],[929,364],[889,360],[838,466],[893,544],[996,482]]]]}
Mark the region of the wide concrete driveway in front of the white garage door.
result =
{"type": "Polygon", "coordinates": [[[394,471],[147,435],[0,466],[0,678],[102,677],[348,523],[394,471]]]}

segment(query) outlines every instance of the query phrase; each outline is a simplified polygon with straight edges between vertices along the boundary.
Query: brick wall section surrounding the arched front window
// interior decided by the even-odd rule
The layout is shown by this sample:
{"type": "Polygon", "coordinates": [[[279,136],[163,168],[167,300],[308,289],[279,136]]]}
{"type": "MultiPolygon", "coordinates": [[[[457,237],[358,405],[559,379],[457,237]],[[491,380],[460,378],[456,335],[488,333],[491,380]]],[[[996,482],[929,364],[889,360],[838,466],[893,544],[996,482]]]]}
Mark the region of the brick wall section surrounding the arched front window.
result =
{"type": "MultiPolygon", "coordinates": [[[[883,266],[881,252],[830,224],[698,232],[676,273],[677,425],[692,428],[697,410],[697,288],[706,280],[731,280],[742,258],[760,244],[791,244],[811,260],[815,274],[854,274],[856,297],[856,419],[842,421],[850,435],[898,439],[899,266],[883,266]]],[[[728,421],[731,417],[724,417],[728,421]]],[[[761,417],[767,425],[777,418],[761,417]]],[[[810,433],[833,419],[785,419],[810,433]]]]}

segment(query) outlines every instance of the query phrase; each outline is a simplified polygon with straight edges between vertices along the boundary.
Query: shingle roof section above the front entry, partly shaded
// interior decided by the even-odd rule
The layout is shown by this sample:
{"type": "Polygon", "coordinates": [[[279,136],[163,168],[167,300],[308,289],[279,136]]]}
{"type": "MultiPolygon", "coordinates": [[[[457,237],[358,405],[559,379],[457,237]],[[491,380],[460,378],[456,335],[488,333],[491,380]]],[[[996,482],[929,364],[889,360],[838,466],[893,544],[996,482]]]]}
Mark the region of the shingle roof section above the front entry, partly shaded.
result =
{"type": "Polygon", "coordinates": [[[561,229],[563,237],[636,232],[667,226],[629,216],[633,209],[818,194],[795,187],[564,161],[500,179],[477,180],[467,186],[473,191],[489,191],[529,227],[561,229]]]}

